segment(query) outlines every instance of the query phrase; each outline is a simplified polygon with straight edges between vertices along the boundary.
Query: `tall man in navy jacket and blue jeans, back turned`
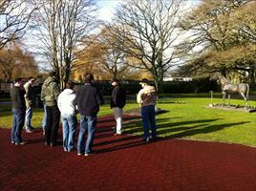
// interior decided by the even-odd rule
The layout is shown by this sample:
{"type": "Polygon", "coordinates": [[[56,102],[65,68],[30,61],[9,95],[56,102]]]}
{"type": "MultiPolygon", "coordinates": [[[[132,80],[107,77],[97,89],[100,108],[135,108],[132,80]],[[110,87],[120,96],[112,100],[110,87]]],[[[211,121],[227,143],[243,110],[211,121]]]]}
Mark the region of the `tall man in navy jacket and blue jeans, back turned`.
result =
{"type": "Polygon", "coordinates": [[[103,104],[103,98],[94,86],[94,75],[85,74],[85,84],[81,87],[75,96],[78,112],[81,115],[80,130],[77,141],[77,155],[84,154],[88,156],[92,150],[93,140],[96,132],[96,114],[99,111],[99,105],[103,104]],[[85,132],[88,136],[85,144],[85,132]]]}

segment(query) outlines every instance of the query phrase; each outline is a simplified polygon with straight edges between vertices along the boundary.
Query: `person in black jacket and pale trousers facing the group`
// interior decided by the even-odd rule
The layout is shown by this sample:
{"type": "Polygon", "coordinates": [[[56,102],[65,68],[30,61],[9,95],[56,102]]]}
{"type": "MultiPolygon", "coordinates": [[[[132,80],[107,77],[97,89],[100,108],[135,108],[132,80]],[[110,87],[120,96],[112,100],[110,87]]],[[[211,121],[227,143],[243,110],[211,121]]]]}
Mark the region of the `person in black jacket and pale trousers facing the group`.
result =
{"type": "Polygon", "coordinates": [[[115,135],[121,135],[122,108],[126,103],[126,93],[125,93],[125,90],[120,86],[119,80],[116,77],[112,79],[111,85],[114,88],[111,94],[110,107],[113,108],[114,116],[117,122],[117,125],[115,128],[115,135]]]}

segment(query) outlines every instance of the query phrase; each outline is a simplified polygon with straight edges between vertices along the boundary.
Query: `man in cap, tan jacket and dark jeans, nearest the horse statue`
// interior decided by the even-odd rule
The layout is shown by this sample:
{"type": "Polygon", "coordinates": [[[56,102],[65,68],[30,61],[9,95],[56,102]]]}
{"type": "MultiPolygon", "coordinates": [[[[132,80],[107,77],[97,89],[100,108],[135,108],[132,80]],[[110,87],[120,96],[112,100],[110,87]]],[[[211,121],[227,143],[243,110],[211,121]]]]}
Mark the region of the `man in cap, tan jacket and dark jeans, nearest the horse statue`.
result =
{"type": "Polygon", "coordinates": [[[143,78],[139,83],[142,89],[137,96],[137,102],[141,107],[141,117],[143,122],[144,141],[149,141],[149,127],[151,128],[152,139],[157,138],[155,105],[156,105],[156,89],[149,85],[147,78],[143,78]]]}

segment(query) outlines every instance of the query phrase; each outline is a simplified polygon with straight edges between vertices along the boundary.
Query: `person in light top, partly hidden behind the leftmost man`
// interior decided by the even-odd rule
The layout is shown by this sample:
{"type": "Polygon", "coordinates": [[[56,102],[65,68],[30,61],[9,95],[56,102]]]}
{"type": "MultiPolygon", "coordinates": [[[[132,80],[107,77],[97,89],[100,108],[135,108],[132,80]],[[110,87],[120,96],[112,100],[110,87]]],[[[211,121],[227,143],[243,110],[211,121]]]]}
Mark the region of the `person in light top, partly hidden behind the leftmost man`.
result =
{"type": "Polygon", "coordinates": [[[25,129],[27,133],[32,133],[32,84],[34,82],[33,77],[28,78],[28,82],[24,85],[26,91],[25,101],[26,101],[26,117],[25,117],[25,129]]]}

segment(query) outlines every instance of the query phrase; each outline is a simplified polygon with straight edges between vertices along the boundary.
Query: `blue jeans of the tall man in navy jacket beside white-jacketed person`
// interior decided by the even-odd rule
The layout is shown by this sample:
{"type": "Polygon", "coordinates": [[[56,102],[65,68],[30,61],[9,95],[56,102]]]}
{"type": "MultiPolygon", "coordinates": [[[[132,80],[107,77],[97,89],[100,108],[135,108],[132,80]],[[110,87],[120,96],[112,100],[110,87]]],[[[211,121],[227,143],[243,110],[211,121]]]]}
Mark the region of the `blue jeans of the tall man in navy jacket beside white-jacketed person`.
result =
{"type": "Polygon", "coordinates": [[[77,141],[77,153],[91,153],[93,140],[96,132],[96,116],[95,117],[84,117],[81,116],[80,131],[77,141]],[[85,144],[85,132],[88,131],[87,140],[85,144]]]}

